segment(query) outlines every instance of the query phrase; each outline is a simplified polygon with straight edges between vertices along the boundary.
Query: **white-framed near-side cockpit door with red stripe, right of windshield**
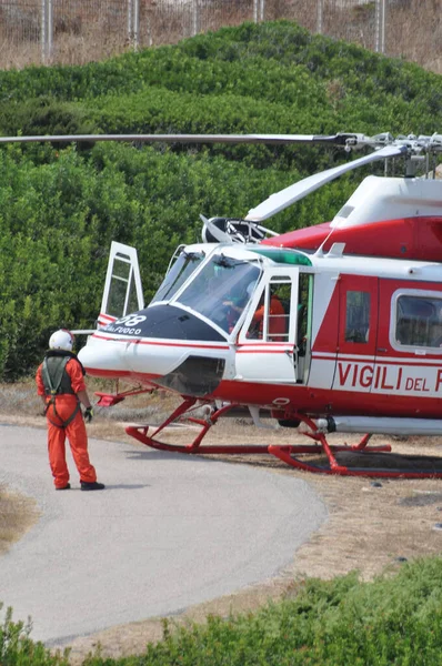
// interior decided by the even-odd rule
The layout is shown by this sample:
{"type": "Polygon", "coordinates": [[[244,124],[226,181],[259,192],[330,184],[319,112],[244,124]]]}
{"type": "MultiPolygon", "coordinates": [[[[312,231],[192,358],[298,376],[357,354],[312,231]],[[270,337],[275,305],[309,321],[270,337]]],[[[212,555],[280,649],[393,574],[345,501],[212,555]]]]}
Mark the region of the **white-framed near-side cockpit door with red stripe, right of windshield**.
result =
{"type": "Polygon", "coordinates": [[[298,269],[265,273],[238,337],[237,381],[297,383],[298,286],[298,269]]]}

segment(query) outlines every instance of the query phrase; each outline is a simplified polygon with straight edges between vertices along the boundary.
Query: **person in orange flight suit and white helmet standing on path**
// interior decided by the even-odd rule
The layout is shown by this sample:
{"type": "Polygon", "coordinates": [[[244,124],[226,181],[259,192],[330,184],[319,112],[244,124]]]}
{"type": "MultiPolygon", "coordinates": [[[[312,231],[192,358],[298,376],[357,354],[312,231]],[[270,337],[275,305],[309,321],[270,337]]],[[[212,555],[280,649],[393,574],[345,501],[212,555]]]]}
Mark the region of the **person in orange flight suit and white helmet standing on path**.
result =
{"type": "Polygon", "coordinates": [[[72,352],[70,331],[56,331],[49,340],[49,351],[40,364],[36,382],[37,392],[44,404],[48,423],[49,463],[57,491],[69,490],[69,470],[66,462],[66,438],[80,475],[82,491],[101,491],[94,467],[89,461],[88,435],[80,405],[86,407],[84,418],[92,421],[93,412],[84,384],[84,369],[72,352]]]}

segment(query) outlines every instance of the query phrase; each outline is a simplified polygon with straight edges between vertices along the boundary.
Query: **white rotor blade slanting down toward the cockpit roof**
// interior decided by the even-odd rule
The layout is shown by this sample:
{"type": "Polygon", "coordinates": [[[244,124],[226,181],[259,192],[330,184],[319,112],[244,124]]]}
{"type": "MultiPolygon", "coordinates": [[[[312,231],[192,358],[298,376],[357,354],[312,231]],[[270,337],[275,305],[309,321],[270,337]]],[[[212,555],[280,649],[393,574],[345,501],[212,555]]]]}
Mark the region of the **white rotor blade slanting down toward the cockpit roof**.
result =
{"type": "Polygon", "coordinates": [[[257,208],[251,209],[244,219],[253,222],[261,222],[262,220],[268,220],[272,215],[287,209],[295,201],[303,199],[304,196],[307,196],[311,192],[314,192],[314,190],[318,190],[325,183],[334,180],[335,178],[339,178],[346,171],[352,171],[353,169],[358,169],[359,167],[370,164],[370,162],[375,162],[378,160],[385,160],[386,158],[404,155],[406,154],[406,152],[408,149],[404,145],[386,145],[385,148],[381,148],[380,150],[378,150],[374,153],[371,153],[370,155],[359,158],[358,160],[353,160],[352,162],[348,162],[346,164],[333,167],[333,169],[328,169],[327,171],[315,173],[314,175],[309,175],[308,178],[304,178],[298,183],[289,185],[284,190],[271,194],[269,199],[260,203],[257,208]]]}

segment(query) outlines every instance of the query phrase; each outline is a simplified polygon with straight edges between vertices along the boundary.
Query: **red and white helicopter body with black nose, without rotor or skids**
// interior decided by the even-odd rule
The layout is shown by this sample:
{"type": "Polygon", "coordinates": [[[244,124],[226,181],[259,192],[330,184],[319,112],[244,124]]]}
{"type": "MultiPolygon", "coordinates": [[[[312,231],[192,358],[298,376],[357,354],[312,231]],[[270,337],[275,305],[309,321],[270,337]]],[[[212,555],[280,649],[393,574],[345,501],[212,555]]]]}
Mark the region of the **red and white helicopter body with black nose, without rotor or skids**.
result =
{"type": "Polygon", "coordinates": [[[183,282],[89,339],[80,352],[89,374],[255,405],[281,420],[439,418],[440,264],[348,255],[340,243],[327,254],[184,252],[200,256],[183,282]]]}

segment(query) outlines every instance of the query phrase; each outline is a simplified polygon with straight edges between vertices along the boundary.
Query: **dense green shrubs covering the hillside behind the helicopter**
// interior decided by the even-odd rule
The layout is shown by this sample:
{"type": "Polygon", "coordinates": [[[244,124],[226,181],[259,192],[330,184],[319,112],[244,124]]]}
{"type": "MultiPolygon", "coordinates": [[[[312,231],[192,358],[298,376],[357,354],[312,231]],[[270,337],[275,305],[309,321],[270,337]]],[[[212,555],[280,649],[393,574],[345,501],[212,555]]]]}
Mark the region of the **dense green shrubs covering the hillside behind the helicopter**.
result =
{"type": "MultiPolygon", "coordinates": [[[[442,77],[287,21],[83,67],[0,72],[2,135],[338,131],[441,132],[442,77]]],[[[345,159],[281,147],[1,147],[0,380],[33,372],[53,329],[93,324],[112,240],[138,248],[149,301],[175,246],[200,239],[200,213],[243,216],[345,159]]],[[[270,225],[331,219],[363,175],[270,225]]]]}

